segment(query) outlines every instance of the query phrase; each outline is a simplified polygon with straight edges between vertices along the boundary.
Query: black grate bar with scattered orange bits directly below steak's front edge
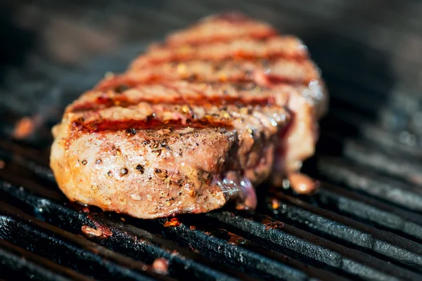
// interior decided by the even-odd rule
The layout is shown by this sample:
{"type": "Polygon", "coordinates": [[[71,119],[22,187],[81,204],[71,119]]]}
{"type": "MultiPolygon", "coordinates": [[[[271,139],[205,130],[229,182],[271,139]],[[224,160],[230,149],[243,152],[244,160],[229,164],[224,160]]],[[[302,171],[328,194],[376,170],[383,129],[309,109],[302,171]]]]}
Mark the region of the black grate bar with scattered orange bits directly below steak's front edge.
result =
{"type": "Polygon", "coordinates": [[[343,280],[343,277],[333,275],[326,270],[308,266],[295,261],[285,254],[264,249],[259,244],[213,225],[211,228],[204,224],[205,217],[198,215],[195,218],[181,216],[177,225],[165,227],[168,219],[150,221],[151,231],[163,233],[165,237],[177,241],[183,247],[199,251],[211,259],[240,266],[245,271],[270,279],[307,280],[316,277],[322,280],[343,280]],[[254,272],[257,270],[257,272],[254,272]],[[302,272],[300,272],[302,271],[302,272]]]}

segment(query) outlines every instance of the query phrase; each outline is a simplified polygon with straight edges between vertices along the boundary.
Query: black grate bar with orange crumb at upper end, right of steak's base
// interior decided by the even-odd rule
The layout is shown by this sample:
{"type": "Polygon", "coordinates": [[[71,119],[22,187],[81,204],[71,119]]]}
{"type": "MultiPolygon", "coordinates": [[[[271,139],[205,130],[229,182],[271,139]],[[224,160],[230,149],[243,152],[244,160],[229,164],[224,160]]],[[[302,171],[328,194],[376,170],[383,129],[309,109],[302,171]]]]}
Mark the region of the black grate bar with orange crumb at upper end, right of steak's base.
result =
{"type": "Polygon", "coordinates": [[[275,198],[268,197],[266,206],[267,212],[274,218],[287,219],[303,230],[354,249],[369,250],[366,252],[378,254],[382,259],[390,258],[387,261],[399,261],[414,270],[422,268],[422,247],[416,242],[315,207],[282,192],[276,192],[275,198]],[[274,204],[279,207],[274,209],[274,204]]]}

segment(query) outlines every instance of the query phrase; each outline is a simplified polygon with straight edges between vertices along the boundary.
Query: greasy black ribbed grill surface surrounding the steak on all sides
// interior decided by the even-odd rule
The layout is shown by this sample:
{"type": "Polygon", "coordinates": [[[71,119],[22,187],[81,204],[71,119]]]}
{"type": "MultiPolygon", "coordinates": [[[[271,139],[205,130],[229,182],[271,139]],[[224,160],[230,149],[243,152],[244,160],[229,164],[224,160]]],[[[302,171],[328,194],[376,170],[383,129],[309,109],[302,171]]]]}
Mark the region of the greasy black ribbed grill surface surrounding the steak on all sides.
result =
{"type": "Polygon", "coordinates": [[[9,7],[25,61],[1,69],[0,278],[422,280],[418,1],[108,1],[104,13],[100,1],[46,2],[9,7]],[[331,107],[304,167],[319,192],[262,186],[255,213],[151,221],[68,202],[47,151],[63,107],[157,34],[227,8],[297,34],[323,70],[331,107]],[[36,132],[16,141],[24,116],[36,132]],[[167,275],[151,266],[159,257],[167,275]]]}

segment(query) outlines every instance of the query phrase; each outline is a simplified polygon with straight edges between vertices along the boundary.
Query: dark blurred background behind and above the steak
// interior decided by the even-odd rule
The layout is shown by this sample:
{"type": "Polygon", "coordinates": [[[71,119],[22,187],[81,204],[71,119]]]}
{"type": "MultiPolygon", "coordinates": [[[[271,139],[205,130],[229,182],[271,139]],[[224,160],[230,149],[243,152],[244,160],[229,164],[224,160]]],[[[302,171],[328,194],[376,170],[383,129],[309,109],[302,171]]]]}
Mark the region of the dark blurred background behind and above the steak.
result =
{"type": "Polygon", "coordinates": [[[32,117],[41,129],[26,139],[34,145],[49,139],[39,124],[57,122],[63,107],[105,72],[122,72],[146,44],[172,30],[234,10],[305,41],[327,81],[331,116],[376,120],[377,129],[397,131],[399,142],[421,145],[422,2],[416,0],[3,1],[0,122],[6,134],[15,130],[14,120],[32,117]]]}

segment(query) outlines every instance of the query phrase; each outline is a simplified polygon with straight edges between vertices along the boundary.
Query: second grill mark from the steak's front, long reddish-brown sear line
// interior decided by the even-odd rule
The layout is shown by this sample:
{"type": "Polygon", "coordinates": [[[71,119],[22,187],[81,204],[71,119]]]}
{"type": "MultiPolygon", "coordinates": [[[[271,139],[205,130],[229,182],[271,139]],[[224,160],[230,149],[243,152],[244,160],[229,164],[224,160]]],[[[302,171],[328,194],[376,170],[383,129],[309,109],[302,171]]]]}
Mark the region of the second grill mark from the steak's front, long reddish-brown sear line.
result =
{"type": "Polygon", "coordinates": [[[70,112],[84,112],[88,110],[103,110],[108,107],[119,106],[119,107],[129,107],[132,105],[138,105],[139,103],[151,103],[151,104],[160,104],[167,103],[171,105],[252,105],[252,106],[269,106],[274,105],[274,97],[256,97],[256,98],[242,98],[241,96],[215,96],[208,97],[203,91],[197,91],[198,96],[184,98],[183,94],[180,92],[177,86],[169,86],[170,89],[178,93],[178,97],[165,98],[160,97],[156,98],[154,96],[146,97],[142,96],[134,100],[129,100],[127,96],[124,96],[122,93],[119,96],[110,97],[107,93],[96,98],[95,101],[88,101],[79,105],[72,107],[70,112]]]}

